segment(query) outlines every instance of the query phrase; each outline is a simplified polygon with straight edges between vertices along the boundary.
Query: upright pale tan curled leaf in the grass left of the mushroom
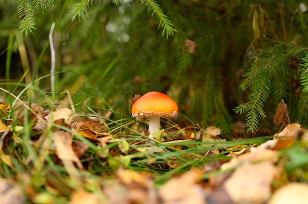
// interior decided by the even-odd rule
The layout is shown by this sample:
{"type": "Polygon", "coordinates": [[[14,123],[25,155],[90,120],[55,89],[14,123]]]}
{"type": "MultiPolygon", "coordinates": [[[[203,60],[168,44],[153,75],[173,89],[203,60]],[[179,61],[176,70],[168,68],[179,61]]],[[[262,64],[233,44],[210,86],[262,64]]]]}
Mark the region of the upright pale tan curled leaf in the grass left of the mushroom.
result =
{"type": "Polygon", "coordinates": [[[73,151],[72,142],[73,135],[59,130],[53,133],[53,140],[57,150],[57,156],[62,161],[72,161],[77,164],[79,169],[83,169],[83,166],[77,157],[77,155],[73,151]]]}

